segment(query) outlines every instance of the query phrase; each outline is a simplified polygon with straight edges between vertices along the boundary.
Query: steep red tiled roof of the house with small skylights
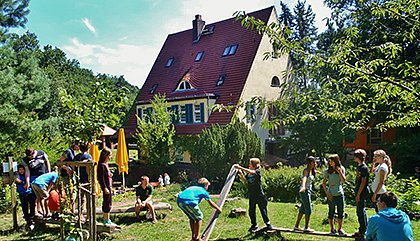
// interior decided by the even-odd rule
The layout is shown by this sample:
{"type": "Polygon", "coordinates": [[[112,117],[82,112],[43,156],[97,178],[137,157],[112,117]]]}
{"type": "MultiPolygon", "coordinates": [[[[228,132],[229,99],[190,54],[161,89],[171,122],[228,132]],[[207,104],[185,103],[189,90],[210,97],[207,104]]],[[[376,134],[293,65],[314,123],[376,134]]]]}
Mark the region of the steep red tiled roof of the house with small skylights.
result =
{"type": "MultiPolygon", "coordinates": [[[[273,8],[262,9],[250,15],[268,22],[273,8]]],[[[139,104],[149,102],[154,94],[165,94],[169,100],[217,96],[216,104],[238,103],[262,36],[254,30],[242,27],[233,18],[206,26],[214,26],[214,32],[202,35],[198,42],[193,42],[192,29],[168,35],[140,90],[139,104]],[[222,57],[224,49],[231,44],[238,45],[236,54],[222,57]],[[200,51],[204,51],[203,58],[195,62],[200,51]],[[169,58],[174,58],[173,64],[165,67],[169,58]],[[226,74],[226,79],[222,86],[216,86],[221,74],[226,74]],[[174,92],[184,76],[189,78],[194,90],[174,92]],[[155,84],[158,87],[150,94],[150,89],[155,84]]],[[[135,111],[131,113],[125,127],[127,130],[135,129],[135,126],[131,126],[137,123],[135,114],[135,111]]],[[[189,133],[193,134],[213,123],[227,124],[232,116],[233,112],[214,112],[207,124],[177,125],[177,134],[188,134],[188,128],[189,133]]]]}

